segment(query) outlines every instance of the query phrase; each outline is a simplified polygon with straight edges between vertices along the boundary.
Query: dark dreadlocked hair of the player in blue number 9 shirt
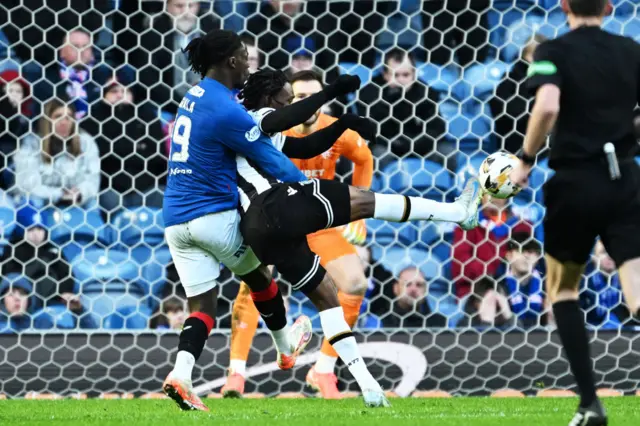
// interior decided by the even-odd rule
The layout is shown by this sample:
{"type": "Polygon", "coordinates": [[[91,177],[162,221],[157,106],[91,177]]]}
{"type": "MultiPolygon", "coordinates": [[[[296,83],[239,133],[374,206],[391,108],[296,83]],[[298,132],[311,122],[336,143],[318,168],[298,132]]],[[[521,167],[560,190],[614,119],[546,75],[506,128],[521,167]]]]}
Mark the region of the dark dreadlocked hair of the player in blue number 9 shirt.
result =
{"type": "Polygon", "coordinates": [[[191,40],[184,52],[189,57],[193,72],[204,78],[212,66],[228,59],[241,46],[240,36],[233,31],[212,30],[203,37],[191,40]]]}

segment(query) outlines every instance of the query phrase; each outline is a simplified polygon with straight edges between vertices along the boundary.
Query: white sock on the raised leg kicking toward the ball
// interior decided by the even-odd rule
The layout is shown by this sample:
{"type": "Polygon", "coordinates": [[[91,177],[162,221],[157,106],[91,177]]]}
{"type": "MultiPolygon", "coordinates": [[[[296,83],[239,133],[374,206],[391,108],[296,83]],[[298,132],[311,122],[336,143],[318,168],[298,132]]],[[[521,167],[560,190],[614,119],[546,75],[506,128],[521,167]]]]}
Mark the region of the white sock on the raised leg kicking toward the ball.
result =
{"type": "MultiPolygon", "coordinates": [[[[404,195],[375,194],[376,205],[373,217],[399,222],[405,214],[406,201],[404,195]]],[[[409,197],[411,211],[408,220],[439,220],[459,223],[466,219],[467,212],[459,203],[440,203],[420,197],[409,197]]]]}

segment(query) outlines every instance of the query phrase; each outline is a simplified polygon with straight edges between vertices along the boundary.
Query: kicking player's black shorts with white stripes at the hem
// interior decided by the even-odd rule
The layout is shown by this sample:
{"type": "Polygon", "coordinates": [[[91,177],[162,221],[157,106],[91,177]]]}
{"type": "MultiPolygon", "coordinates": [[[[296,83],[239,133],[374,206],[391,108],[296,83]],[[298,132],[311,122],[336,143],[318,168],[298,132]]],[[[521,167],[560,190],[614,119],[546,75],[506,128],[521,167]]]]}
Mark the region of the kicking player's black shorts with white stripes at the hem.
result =
{"type": "Polygon", "coordinates": [[[278,184],[258,195],[242,217],[240,229],[260,261],[274,265],[293,290],[309,292],[324,278],[320,258],[307,235],[349,223],[349,187],[312,179],[278,184]]]}

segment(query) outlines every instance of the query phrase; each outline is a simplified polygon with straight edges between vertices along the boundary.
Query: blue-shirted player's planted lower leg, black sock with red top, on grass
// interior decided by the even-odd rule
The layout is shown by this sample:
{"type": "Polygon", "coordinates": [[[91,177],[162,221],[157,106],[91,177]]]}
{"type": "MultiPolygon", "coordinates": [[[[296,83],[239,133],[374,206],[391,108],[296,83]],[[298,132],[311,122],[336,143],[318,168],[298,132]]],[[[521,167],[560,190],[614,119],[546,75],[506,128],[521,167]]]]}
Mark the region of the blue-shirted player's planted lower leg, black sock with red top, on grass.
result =
{"type": "Polygon", "coordinates": [[[188,298],[191,315],[182,326],[174,368],[162,384],[163,392],[182,410],[209,411],[209,408],[193,392],[191,375],[193,366],[200,358],[213,328],[217,298],[217,287],[188,298]]]}

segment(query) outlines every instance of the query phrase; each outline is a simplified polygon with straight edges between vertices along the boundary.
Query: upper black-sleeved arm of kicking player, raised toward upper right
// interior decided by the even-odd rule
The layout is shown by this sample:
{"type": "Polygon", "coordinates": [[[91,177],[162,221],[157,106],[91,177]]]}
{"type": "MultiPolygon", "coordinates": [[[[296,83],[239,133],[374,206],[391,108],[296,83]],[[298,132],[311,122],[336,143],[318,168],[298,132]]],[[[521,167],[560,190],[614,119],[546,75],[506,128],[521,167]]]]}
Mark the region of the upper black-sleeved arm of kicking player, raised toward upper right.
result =
{"type": "MultiPolygon", "coordinates": [[[[327,102],[360,88],[360,78],[352,75],[341,75],[332,84],[308,98],[280,108],[262,120],[261,129],[267,134],[284,132],[307,121],[327,102]]],[[[323,151],[324,152],[324,151],[323,151]]]]}

